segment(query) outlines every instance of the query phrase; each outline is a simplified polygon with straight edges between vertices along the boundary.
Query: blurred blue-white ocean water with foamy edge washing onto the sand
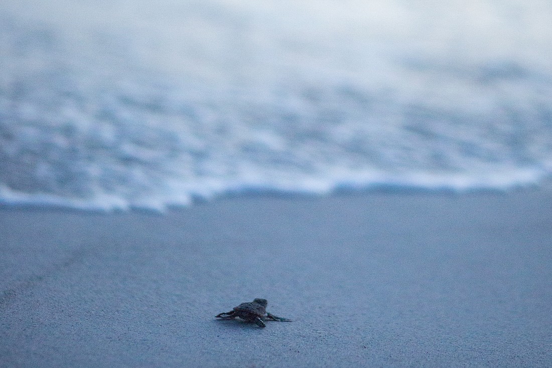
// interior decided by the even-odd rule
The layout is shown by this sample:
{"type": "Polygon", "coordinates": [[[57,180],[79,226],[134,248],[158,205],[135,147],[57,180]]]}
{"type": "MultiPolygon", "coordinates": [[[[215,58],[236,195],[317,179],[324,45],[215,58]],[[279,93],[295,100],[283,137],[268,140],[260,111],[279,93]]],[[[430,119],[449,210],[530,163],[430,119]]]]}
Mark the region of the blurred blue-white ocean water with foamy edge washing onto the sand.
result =
{"type": "Polygon", "coordinates": [[[8,0],[0,203],[552,174],[552,3],[8,0]]]}

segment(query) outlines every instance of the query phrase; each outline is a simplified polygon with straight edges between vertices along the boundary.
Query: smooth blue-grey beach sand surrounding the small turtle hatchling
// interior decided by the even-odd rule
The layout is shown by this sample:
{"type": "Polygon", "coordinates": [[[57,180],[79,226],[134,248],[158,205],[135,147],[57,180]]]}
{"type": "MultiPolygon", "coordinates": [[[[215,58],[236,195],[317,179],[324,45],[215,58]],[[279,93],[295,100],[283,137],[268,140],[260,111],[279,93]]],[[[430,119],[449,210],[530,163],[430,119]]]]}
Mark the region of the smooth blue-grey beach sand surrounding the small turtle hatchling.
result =
{"type": "Polygon", "coordinates": [[[552,366],[546,191],[3,208],[0,254],[2,367],[552,366]]]}

